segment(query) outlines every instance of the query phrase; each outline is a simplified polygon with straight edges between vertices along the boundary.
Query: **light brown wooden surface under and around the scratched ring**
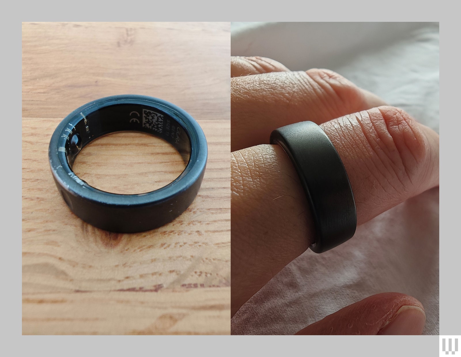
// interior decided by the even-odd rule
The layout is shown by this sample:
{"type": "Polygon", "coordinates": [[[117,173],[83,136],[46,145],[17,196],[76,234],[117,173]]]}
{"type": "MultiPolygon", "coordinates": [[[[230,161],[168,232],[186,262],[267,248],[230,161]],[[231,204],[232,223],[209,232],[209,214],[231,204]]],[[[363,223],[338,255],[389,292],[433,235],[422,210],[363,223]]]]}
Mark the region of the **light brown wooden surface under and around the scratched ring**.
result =
{"type": "MultiPolygon", "coordinates": [[[[23,24],[23,334],[230,333],[230,43],[229,23],[23,24]],[[207,137],[195,201],[148,232],[77,218],[48,163],[59,122],[117,94],[171,101],[207,137]]],[[[74,169],[97,188],[139,193],[181,165],[161,140],[123,132],[83,149],[74,169]]]]}

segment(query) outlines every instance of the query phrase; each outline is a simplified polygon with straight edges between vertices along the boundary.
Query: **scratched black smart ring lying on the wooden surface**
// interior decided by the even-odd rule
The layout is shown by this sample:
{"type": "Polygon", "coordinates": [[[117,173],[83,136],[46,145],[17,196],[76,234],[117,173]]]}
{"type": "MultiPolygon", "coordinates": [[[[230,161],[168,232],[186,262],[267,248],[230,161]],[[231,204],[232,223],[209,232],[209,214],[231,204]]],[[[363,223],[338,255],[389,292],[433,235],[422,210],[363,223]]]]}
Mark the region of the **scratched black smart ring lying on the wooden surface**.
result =
{"type": "Polygon", "coordinates": [[[70,113],[51,137],[51,172],[67,206],[85,222],[112,232],[142,232],[174,220],[194,201],[207,164],[207,140],[183,109],[144,95],[114,95],[70,113]],[[115,131],[160,137],[181,154],[186,168],[170,184],[151,192],[119,195],[79,179],[72,165],[88,143],[115,131]]]}

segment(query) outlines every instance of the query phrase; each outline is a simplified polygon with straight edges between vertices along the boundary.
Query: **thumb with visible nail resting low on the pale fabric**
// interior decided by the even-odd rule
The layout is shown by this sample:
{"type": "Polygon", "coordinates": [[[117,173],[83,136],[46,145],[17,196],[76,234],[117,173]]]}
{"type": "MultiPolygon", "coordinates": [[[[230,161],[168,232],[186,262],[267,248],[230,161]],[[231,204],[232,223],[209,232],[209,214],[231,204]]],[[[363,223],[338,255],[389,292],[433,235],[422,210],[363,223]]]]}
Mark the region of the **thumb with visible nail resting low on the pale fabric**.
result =
{"type": "Polygon", "coordinates": [[[297,335],[420,335],[423,305],[397,292],[373,295],[313,323],[297,335]]]}

